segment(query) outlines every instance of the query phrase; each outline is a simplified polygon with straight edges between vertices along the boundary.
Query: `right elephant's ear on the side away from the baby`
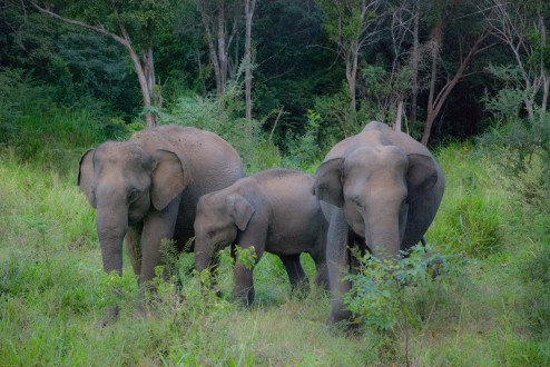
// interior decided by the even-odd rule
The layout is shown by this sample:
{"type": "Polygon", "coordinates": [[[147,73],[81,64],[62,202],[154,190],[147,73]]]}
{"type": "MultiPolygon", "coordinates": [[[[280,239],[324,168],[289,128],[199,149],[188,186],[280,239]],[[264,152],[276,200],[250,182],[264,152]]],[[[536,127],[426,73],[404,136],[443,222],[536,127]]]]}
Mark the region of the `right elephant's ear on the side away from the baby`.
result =
{"type": "Polygon", "coordinates": [[[406,182],[409,197],[415,197],[415,192],[430,190],[438,182],[438,169],[433,158],[425,155],[409,155],[406,182]]]}

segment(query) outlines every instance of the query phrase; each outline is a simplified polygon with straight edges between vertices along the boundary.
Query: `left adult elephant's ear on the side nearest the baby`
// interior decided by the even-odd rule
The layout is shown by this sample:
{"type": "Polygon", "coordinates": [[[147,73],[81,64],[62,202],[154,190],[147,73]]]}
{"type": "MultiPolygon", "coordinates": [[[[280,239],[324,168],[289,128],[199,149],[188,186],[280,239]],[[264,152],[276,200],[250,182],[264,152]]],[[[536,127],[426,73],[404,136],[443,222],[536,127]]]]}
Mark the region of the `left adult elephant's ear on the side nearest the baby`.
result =
{"type": "Polygon", "coordinates": [[[191,182],[185,163],[169,150],[157,149],[153,153],[151,202],[163,210],[191,182]]]}

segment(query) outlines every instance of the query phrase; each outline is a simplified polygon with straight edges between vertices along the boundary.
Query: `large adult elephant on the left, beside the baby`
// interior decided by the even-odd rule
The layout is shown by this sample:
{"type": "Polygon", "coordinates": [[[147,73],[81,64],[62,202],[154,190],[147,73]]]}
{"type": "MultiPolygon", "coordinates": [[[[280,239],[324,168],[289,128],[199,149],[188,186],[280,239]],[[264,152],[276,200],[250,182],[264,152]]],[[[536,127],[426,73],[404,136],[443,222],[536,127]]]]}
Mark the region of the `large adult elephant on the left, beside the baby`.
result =
{"type": "Polygon", "coordinates": [[[122,239],[140,290],[160,265],[160,242],[178,251],[194,236],[198,198],[244,176],[237,151],[213,132],[160,126],[107,141],[80,159],[78,187],[97,209],[106,272],[122,275],[122,239]]]}

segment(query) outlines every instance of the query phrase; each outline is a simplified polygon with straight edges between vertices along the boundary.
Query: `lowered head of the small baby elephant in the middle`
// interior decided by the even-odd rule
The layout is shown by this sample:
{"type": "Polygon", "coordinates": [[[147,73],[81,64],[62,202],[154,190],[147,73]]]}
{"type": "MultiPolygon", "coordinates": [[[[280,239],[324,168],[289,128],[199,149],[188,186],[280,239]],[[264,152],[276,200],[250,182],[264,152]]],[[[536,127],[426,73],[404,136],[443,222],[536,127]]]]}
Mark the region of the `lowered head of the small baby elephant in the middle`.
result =
{"type": "Polygon", "coordinates": [[[204,270],[210,265],[219,246],[232,245],[238,230],[244,231],[255,212],[254,207],[238,194],[227,190],[207,194],[198,200],[195,219],[195,266],[204,270]]]}

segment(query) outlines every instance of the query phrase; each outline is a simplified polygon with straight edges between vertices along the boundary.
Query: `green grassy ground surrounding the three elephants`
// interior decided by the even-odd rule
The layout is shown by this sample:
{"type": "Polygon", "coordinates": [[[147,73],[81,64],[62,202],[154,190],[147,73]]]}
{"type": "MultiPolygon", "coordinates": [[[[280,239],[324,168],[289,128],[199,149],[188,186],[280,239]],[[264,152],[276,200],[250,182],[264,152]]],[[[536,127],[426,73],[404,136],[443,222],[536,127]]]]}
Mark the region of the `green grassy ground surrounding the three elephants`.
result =
{"type": "Polygon", "coordinates": [[[78,116],[48,120],[48,131],[22,123],[19,132],[35,142],[0,147],[0,365],[550,365],[548,212],[522,205],[474,147],[438,151],[448,189],[426,237],[448,270],[435,282],[397,290],[391,327],[327,329],[328,296],[313,289],[291,297],[273,256],[256,268],[252,309],[228,300],[225,264],[224,297],[184,274],[180,291],[159,282],[155,310],[135,318],[129,262],[122,278],[102,272],[95,212],[75,185],[79,153],[101,139],[81,136],[78,116]],[[56,137],[67,125],[78,143],[56,137]],[[100,327],[114,304],[120,318],[100,327]]]}

